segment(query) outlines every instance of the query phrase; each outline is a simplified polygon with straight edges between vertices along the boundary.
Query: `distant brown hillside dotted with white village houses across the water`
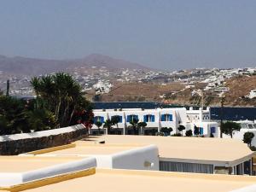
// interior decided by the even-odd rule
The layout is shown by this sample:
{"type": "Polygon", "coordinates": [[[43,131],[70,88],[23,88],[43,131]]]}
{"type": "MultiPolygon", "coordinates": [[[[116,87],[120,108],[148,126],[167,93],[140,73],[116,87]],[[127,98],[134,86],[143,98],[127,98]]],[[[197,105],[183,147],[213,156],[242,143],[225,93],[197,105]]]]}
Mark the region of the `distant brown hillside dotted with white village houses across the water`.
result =
{"type": "MultiPolygon", "coordinates": [[[[235,95],[239,96],[234,100],[235,102],[231,103],[227,98],[227,104],[256,105],[254,103],[256,97],[256,67],[195,68],[167,72],[92,66],[74,67],[68,69],[68,72],[79,81],[90,100],[95,101],[156,101],[200,105],[201,97],[204,96],[206,105],[219,105],[222,97],[234,97],[235,95]],[[239,84],[244,84],[247,81],[248,86],[240,89],[242,94],[239,93],[240,90],[234,92],[234,86],[239,86],[239,84]],[[232,94],[234,95],[232,96],[232,94]]],[[[6,81],[9,79],[10,95],[33,96],[30,75],[9,75],[3,71],[0,73],[1,90],[6,90],[6,81]]]]}

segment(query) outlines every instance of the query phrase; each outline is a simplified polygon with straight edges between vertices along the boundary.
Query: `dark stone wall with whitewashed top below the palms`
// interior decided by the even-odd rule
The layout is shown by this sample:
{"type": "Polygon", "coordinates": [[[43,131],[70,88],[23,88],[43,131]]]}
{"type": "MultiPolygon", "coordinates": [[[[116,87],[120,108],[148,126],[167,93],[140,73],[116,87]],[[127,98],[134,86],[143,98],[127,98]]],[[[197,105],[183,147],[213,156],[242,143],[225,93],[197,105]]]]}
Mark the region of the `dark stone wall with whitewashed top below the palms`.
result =
{"type": "MultiPolygon", "coordinates": [[[[70,127],[73,128],[73,127],[70,127]]],[[[67,128],[63,128],[67,129],[67,128]]],[[[58,129],[58,131],[61,131],[61,129],[58,129]]],[[[78,140],[81,137],[88,136],[87,129],[84,128],[83,125],[76,125],[75,129],[71,131],[64,130],[63,132],[59,134],[51,134],[51,131],[49,131],[49,135],[45,136],[44,131],[44,137],[40,137],[40,132],[35,132],[37,134],[37,137],[22,137],[18,139],[5,139],[5,141],[0,142],[0,154],[1,155],[15,155],[15,154],[22,154],[38,149],[43,148],[51,148],[60,146],[63,144],[71,143],[75,140],[78,140]]],[[[43,132],[43,131],[42,131],[43,132]]],[[[22,135],[22,134],[20,134],[22,135]]],[[[5,136],[9,137],[9,136],[5,136]]]]}

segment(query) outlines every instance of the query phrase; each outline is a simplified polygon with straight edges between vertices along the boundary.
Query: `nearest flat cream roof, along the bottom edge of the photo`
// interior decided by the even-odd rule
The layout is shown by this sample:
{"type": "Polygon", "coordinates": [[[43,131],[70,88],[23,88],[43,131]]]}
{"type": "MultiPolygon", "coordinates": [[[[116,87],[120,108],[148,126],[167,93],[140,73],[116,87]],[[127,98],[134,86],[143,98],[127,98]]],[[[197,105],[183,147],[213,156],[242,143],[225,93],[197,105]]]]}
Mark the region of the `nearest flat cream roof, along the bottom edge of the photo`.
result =
{"type": "Polygon", "coordinates": [[[96,169],[96,174],[24,192],[228,192],[253,185],[255,177],[96,169]]]}

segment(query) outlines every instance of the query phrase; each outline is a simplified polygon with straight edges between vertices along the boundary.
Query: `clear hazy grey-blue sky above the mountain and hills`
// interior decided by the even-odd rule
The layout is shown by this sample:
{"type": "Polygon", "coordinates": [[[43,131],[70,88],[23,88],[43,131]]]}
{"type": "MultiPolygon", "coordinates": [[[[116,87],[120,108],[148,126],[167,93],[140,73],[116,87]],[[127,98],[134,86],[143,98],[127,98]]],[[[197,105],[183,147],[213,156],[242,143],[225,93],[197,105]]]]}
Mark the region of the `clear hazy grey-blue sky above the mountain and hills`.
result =
{"type": "Polygon", "coordinates": [[[0,55],[256,67],[255,0],[0,0],[0,55]]]}

